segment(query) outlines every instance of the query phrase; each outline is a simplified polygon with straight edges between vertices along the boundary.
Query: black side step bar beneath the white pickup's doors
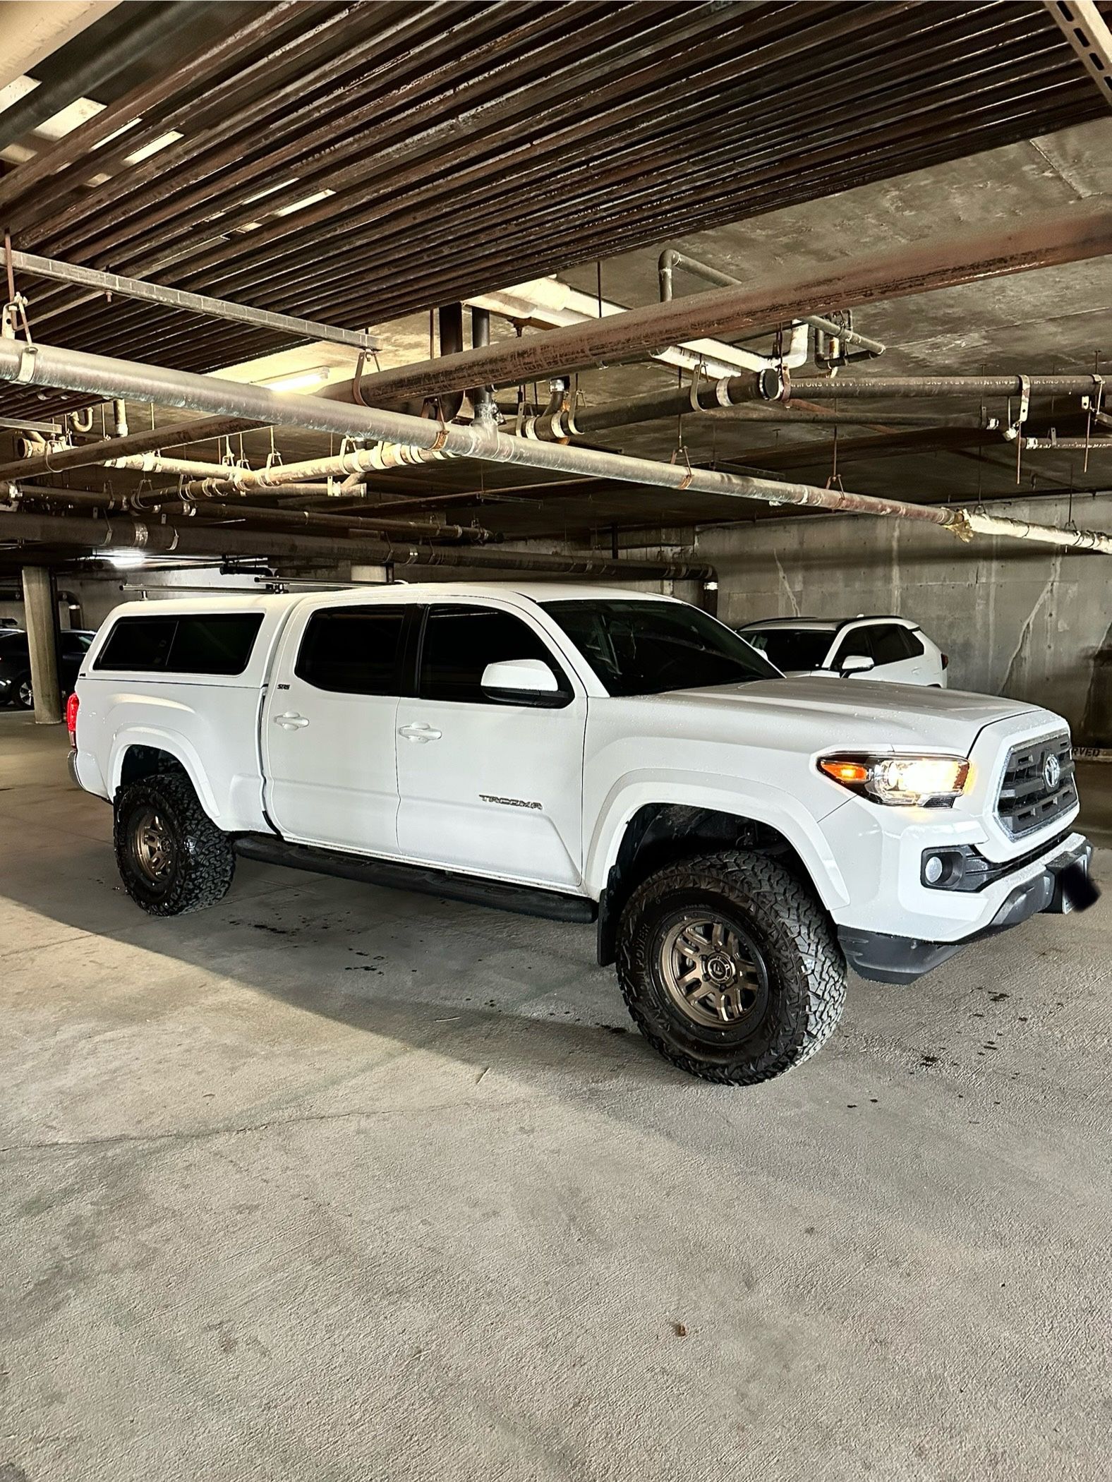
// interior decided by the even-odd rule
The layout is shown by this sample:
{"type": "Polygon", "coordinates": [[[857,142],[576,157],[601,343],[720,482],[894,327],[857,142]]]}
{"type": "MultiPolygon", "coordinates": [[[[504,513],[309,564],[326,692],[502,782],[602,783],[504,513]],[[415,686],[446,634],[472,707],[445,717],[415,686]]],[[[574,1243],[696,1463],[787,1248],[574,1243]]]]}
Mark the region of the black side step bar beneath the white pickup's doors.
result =
{"type": "Polygon", "coordinates": [[[485,880],[477,874],[433,870],[424,864],[400,864],[396,860],[375,860],[338,849],[311,849],[270,834],[239,834],[234,846],[236,854],[242,854],[245,860],[335,874],[365,885],[421,891],[424,895],[440,895],[471,906],[494,906],[497,910],[517,911],[519,916],[544,916],[556,922],[593,922],[598,916],[598,906],[586,895],[562,895],[537,885],[509,885],[506,880],[485,880]]]}

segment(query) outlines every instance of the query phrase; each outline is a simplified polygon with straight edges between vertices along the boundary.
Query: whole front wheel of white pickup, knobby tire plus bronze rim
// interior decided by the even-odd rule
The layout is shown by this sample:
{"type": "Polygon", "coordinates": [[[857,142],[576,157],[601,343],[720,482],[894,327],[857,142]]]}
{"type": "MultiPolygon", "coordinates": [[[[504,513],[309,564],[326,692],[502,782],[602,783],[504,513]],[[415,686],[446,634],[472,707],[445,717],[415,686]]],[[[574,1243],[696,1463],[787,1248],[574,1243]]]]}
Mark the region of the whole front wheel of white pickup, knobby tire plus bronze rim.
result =
{"type": "Polygon", "coordinates": [[[660,870],[630,897],[618,935],[641,1033],[704,1080],[771,1080],[841,1018],[845,959],[830,919],[765,855],[731,849],[660,870]]]}

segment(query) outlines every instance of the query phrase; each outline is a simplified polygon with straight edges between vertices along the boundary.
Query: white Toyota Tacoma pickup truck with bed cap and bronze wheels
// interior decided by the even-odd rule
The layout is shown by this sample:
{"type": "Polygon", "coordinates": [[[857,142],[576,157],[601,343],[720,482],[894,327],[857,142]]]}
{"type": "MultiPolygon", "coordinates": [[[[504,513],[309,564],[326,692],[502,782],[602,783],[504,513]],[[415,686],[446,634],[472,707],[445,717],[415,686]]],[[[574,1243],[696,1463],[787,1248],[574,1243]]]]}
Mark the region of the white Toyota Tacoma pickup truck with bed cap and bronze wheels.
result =
{"type": "Polygon", "coordinates": [[[129,603],[70,705],[154,916],[236,855],[598,922],[651,1043],[710,1080],[811,1055],[863,977],[1068,910],[1091,849],[1036,705],[784,679],[670,597],[394,585],[129,603]]]}

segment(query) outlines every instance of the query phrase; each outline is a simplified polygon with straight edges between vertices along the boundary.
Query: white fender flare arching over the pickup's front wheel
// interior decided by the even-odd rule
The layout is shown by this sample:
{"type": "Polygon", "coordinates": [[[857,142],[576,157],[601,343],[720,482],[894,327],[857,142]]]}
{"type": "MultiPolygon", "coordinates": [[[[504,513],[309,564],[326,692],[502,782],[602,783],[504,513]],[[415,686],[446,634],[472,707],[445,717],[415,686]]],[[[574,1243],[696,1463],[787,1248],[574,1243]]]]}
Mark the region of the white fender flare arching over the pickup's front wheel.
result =
{"type": "Polygon", "coordinates": [[[775,828],[804,863],[829,911],[848,904],[850,891],[818,820],[783,788],[709,772],[627,772],[603,799],[587,845],[584,876],[596,898],[606,886],[633,815],[646,805],[706,808],[775,828]]]}

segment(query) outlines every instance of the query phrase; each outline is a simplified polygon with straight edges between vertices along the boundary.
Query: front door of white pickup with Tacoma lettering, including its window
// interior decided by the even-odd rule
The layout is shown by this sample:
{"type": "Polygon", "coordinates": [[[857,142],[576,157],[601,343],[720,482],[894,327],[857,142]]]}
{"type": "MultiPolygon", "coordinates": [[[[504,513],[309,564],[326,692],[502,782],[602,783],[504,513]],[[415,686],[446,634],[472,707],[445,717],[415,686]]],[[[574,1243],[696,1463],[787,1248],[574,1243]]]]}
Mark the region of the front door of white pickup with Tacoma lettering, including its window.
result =
{"type": "Polygon", "coordinates": [[[507,608],[428,609],[418,697],[397,710],[397,842],[405,858],[574,888],[583,852],[587,701],[546,639],[507,608]],[[566,700],[507,704],[482,691],[488,664],[538,658],[566,700]]]}

